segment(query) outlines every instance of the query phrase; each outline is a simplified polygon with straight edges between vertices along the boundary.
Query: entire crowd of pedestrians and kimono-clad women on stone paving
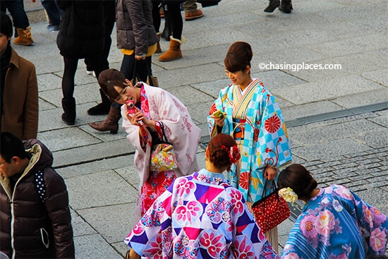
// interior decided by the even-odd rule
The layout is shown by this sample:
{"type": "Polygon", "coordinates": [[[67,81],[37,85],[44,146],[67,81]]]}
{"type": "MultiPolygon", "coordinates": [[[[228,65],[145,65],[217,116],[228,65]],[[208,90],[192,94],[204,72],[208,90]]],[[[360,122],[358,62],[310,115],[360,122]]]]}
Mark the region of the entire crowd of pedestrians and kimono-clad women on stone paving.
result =
{"type": "MultiPolygon", "coordinates": [[[[108,115],[90,126],[117,133],[122,117],[126,138],[135,147],[138,223],[128,229],[127,258],[384,257],[387,217],[344,186],[317,188],[305,167],[292,164],[279,104],[260,79],[251,76],[253,49],[248,42],[234,42],[226,52],[231,84],[210,107],[211,140],[205,168],[198,167],[200,128],[177,97],[145,83],[152,76],[152,54],[162,52],[162,35],[170,46],[159,61],[183,57],[181,11],[185,20],[201,18],[195,2],[42,0],[47,29],[59,31],[62,121],[75,124],[74,78],[78,60],[85,59],[102,98],[87,113],[108,115]],[[161,15],[166,19],[164,32],[159,31],[161,15]],[[108,62],[115,22],[117,47],[123,53],[120,71],[109,68],[108,62]],[[134,112],[127,102],[133,102],[134,112]],[[164,137],[174,147],[178,167],[152,171],[152,146],[164,137]],[[305,203],[280,255],[277,227],[264,233],[252,210],[253,203],[274,191],[265,187],[272,181],[305,203]]],[[[206,1],[198,2],[206,6],[206,1]]],[[[265,11],[277,7],[284,13],[292,10],[291,1],[270,0],[265,11]]],[[[33,43],[26,18],[23,1],[1,1],[0,256],[75,258],[66,185],[52,168],[51,152],[36,139],[35,66],[11,47],[13,28],[14,44],[33,43]],[[16,97],[23,106],[14,106],[16,97]]]]}

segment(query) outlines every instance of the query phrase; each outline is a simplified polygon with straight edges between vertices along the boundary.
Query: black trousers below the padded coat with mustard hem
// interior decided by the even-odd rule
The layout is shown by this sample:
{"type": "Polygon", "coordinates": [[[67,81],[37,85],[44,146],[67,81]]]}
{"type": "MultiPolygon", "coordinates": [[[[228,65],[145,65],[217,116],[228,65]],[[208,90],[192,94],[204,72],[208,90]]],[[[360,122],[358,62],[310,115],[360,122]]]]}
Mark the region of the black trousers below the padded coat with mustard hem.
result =
{"type": "MultiPolygon", "coordinates": [[[[126,79],[132,80],[133,79],[133,72],[135,70],[135,64],[136,64],[136,71],[138,74],[138,77],[141,81],[145,82],[147,80],[148,71],[150,71],[150,75],[152,75],[152,56],[147,56],[145,60],[136,60],[135,59],[135,53],[133,53],[131,56],[124,55],[123,61],[121,62],[121,68],[120,72],[124,74],[126,79]]],[[[112,107],[116,109],[120,109],[121,104],[118,104],[117,102],[112,103],[112,107]]]]}

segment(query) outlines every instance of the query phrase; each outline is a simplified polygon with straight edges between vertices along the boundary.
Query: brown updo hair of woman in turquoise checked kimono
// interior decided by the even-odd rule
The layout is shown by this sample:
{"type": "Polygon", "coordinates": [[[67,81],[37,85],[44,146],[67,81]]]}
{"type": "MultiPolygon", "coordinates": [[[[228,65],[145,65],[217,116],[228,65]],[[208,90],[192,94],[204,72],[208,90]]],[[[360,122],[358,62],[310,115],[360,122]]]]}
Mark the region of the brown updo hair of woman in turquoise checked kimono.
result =
{"type": "Polygon", "coordinates": [[[253,52],[252,47],[247,42],[234,42],[229,47],[224,59],[225,68],[231,73],[245,71],[246,66],[250,66],[253,52]]]}

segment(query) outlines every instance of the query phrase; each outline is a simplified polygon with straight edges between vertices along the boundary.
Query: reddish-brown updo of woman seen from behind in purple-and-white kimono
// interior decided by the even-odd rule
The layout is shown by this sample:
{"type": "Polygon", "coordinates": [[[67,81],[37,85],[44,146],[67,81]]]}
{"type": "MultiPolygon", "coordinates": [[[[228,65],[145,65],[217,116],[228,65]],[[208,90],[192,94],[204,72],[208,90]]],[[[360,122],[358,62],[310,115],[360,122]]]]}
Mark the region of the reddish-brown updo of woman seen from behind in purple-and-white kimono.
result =
{"type": "Polygon", "coordinates": [[[214,164],[214,167],[219,169],[226,167],[227,171],[231,169],[232,163],[229,158],[228,150],[230,150],[234,145],[237,145],[236,140],[225,133],[217,134],[214,138],[212,138],[212,140],[210,140],[209,145],[207,145],[208,155],[210,162],[214,164]],[[224,145],[224,148],[222,145],[224,145]]]}

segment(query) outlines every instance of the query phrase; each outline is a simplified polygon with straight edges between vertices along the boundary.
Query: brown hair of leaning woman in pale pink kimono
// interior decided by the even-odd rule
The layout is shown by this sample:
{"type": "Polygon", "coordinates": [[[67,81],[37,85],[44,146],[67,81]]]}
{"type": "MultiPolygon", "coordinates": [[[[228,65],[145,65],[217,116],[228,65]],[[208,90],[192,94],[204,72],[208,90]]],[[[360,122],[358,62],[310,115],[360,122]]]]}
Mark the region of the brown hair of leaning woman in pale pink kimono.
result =
{"type": "Polygon", "coordinates": [[[128,86],[123,73],[114,68],[106,69],[99,73],[98,84],[111,102],[116,102],[115,100],[119,97],[119,92],[114,89],[115,86],[119,86],[120,88],[126,88],[128,86]]]}

